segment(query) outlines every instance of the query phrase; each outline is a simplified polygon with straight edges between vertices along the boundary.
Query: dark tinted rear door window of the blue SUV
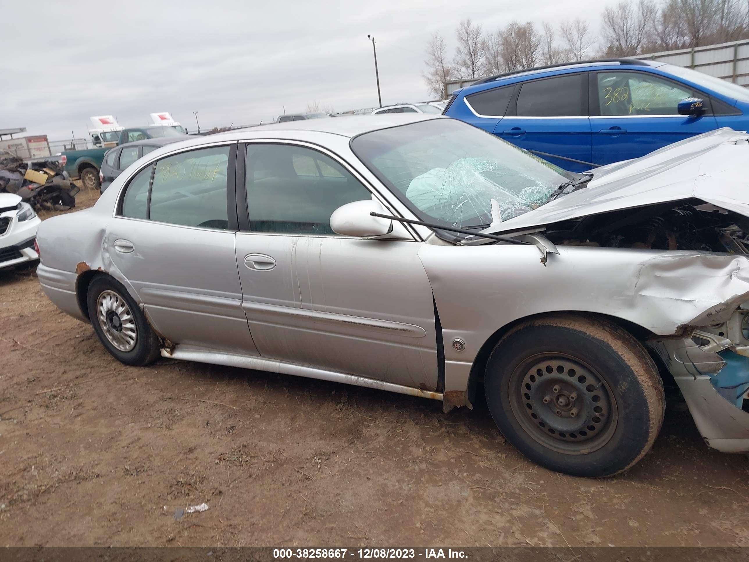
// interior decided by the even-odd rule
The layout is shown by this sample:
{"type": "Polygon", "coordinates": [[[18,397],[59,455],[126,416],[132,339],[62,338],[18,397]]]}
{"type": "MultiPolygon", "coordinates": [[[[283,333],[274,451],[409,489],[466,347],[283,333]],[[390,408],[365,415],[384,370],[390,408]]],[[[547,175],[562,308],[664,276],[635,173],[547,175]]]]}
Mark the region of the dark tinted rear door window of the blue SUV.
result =
{"type": "Polygon", "coordinates": [[[518,94],[518,117],[587,116],[583,111],[583,75],[565,74],[524,82],[518,94]]]}

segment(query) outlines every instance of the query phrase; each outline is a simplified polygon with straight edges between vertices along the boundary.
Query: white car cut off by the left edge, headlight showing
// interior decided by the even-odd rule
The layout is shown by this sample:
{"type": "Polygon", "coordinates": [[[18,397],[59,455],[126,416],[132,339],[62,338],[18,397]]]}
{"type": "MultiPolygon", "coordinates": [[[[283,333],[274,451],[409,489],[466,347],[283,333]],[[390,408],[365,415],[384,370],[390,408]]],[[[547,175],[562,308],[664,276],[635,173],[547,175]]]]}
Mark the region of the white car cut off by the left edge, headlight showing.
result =
{"type": "Polygon", "coordinates": [[[34,262],[37,229],[42,221],[15,193],[0,193],[0,269],[34,262]]]}

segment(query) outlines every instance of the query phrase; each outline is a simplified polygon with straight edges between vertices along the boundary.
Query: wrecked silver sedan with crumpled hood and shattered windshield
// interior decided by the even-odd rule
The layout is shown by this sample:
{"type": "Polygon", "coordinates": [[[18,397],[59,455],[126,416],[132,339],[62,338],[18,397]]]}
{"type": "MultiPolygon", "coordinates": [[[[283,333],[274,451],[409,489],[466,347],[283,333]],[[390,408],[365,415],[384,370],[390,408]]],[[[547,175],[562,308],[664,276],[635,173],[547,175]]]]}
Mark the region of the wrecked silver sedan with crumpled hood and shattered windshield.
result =
{"type": "Polygon", "coordinates": [[[574,175],[433,115],[196,137],[43,221],[43,291],[128,365],[241,366],[472,407],[555,471],[638,462],[674,384],[749,452],[749,136],[574,175]]]}

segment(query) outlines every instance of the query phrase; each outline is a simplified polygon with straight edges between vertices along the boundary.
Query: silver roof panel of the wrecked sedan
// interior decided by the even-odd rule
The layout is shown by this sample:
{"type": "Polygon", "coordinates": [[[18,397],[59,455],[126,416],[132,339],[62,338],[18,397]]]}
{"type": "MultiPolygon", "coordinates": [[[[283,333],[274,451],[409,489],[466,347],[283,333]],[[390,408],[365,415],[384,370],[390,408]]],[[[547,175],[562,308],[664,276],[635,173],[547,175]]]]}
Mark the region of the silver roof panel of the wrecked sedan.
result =
{"type": "Polygon", "coordinates": [[[438,118],[440,118],[440,115],[429,115],[423,113],[346,115],[335,118],[287,121],[286,123],[247,127],[246,129],[227,131],[226,133],[216,133],[215,135],[206,136],[204,139],[206,139],[206,142],[214,142],[222,139],[246,139],[255,136],[262,136],[265,131],[278,130],[317,131],[318,133],[331,133],[334,135],[352,137],[360,135],[361,133],[369,133],[373,130],[387,129],[389,127],[397,127],[398,125],[438,118]]]}

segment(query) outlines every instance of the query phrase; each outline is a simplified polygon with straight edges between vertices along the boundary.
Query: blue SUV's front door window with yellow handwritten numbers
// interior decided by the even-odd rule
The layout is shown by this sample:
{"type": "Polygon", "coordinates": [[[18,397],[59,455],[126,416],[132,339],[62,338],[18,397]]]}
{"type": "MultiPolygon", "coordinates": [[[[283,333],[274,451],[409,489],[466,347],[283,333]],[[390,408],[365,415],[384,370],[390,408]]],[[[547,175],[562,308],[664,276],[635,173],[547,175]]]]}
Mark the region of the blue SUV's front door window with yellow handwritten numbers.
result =
{"type": "Polygon", "coordinates": [[[679,115],[681,100],[693,91],[676,82],[641,72],[599,72],[599,115],[679,115]]]}

